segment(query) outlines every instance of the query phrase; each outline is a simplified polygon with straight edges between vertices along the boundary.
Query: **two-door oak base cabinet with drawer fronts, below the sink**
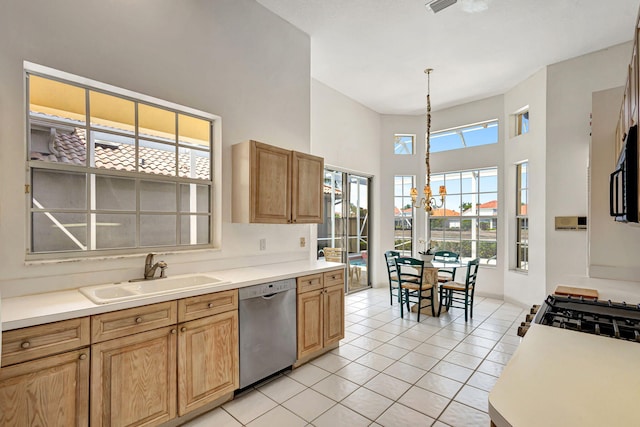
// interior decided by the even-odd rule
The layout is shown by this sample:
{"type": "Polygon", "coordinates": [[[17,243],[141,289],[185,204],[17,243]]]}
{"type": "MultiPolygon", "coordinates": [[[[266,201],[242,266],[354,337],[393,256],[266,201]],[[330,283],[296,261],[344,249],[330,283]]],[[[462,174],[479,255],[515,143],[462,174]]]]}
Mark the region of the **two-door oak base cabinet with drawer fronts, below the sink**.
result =
{"type": "Polygon", "coordinates": [[[159,425],[238,388],[237,289],[96,315],[91,325],[92,425],[159,425]]]}

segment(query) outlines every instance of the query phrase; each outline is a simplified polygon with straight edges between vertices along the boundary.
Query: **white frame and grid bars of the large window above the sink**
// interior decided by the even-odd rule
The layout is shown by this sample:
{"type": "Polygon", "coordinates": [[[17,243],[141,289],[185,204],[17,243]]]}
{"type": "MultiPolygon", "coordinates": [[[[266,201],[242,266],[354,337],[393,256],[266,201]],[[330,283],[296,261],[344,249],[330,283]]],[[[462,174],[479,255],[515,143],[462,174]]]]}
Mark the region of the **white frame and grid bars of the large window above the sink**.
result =
{"type": "MultiPolygon", "coordinates": [[[[42,66],[39,64],[31,63],[28,61],[24,61],[23,64],[23,73],[24,73],[24,111],[25,111],[25,142],[26,147],[24,149],[25,155],[25,216],[27,221],[26,233],[25,233],[25,258],[27,261],[38,261],[38,260],[66,260],[66,259],[86,259],[86,258],[101,258],[101,257],[112,257],[112,256],[122,256],[126,254],[135,254],[135,253],[147,253],[147,252],[162,252],[162,253],[179,253],[184,251],[193,251],[199,249],[205,250],[219,250],[221,248],[221,235],[222,235],[222,191],[221,191],[221,165],[222,165],[222,119],[220,116],[207,113],[204,111],[196,110],[194,108],[186,107],[183,105],[175,104],[169,101],[165,101],[159,98],[151,97],[148,95],[144,95],[141,93],[137,93],[134,91],[130,91],[128,89],[119,88],[116,86],[112,86],[106,83],[98,82],[92,79],[88,79],[85,77],[77,76],[74,74],[70,74],[64,71],[56,70],[53,68],[49,68],[46,66],[42,66]],[[180,173],[176,170],[175,176],[164,176],[158,174],[144,173],[144,172],[129,172],[124,170],[115,170],[115,169],[106,169],[106,168],[98,168],[95,166],[90,166],[89,161],[85,163],[84,166],[81,165],[65,165],[55,162],[45,162],[41,160],[31,160],[30,159],[30,149],[31,149],[31,114],[30,114],[30,95],[29,95],[29,76],[39,76],[53,81],[60,81],[66,84],[71,84],[73,86],[80,87],[82,89],[91,90],[95,92],[106,93],[108,95],[114,95],[118,98],[123,98],[126,100],[150,105],[153,107],[160,107],[162,109],[167,109],[172,111],[175,114],[176,120],[180,114],[195,117],[198,119],[206,120],[210,122],[210,147],[208,150],[209,153],[209,168],[210,168],[210,180],[202,180],[195,178],[185,178],[181,177],[180,173]],[[87,206],[86,209],[82,210],[83,213],[87,214],[87,242],[89,243],[89,235],[91,233],[91,217],[95,217],[95,215],[99,215],[101,211],[96,209],[91,209],[91,198],[89,197],[89,186],[91,180],[96,180],[98,177],[110,177],[110,178],[121,178],[126,177],[134,180],[135,182],[135,195],[136,199],[140,197],[139,192],[139,183],[141,181],[153,181],[153,182],[171,182],[175,183],[177,187],[177,192],[180,192],[180,186],[182,184],[201,184],[210,187],[209,192],[209,208],[207,211],[207,215],[209,216],[209,243],[206,244],[181,244],[180,241],[176,241],[175,245],[166,245],[166,246],[141,246],[140,241],[137,240],[136,237],[136,247],[131,248],[116,248],[116,249],[91,249],[87,248],[86,250],[65,250],[65,251],[43,251],[43,252],[33,252],[33,221],[32,221],[32,213],[34,212],[34,207],[32,206],[32,171],[62,171],[65,173],[81,173],[86,177],[86,187],[87,187],[87,196],[85,197],[87,206]]],[[[88,93],[85,92],[88,98],[88,93]]],[[[87,101],[88,103],[88,101],[87,101]]],[[[89,112],[85,112],[85,117],[90,118],[89,112]]],[[[44,120],[46,122],[46,120],[44,120]]],[[[63,122],[64,120],[61,120],[63,122]]],[[[58,123],[58,121],[55,121],[58,123]]],[[[40,120],[37,120],[36,123],[40,123],[40,120]]],[[[53,123],[52,125],[55,125],[53,123]]],[[[100,132],[100,128],[93,129],[89,122],[85,123],[85,129],[95,132],[100,132]]],[[[108,133],[108,132],[106,132],[108,133]]],[[[137,132],[136,132],[137,137],[137,132]]],[[[87,145],[90,144],[91,135],[88,134],[86,136],[87,145]]],[[[149,139],[146,136],[142,137],[142,139],[149,139]]],[[[151,138],[151,141],[157,140],[157,138],[151,138]]],[[[179,140],[179,136],[176,134],[176,156],[179,154],[180,144],[177,142],[179,140]]],[[[136,140],[136,158],[137,158],[137,140],[136,140]]],[[[90,151],[90,149],[88,149],[90,151]]],[[[205,150],[206,151],[206,150],[205,150]]],[[[178,157],[176,157],[178,158],[178,157]]],[[[179,163],[179,160],[178,160],[179,163]]],[[[37,208],[36,208],[37,210],[37,208]]],[[[47,209],[48,211],[49,209],[47,209]]],[[[64,210],[69,211],[70,209],[64,210]]],[[[139,217],[141,215],[140,205],[138,204],[136,207],[136,236],[139,236],[140,230],[140,220],[139,217]]],[[[180,223],[180,213],[183,212],[180,209],[180,206],[176,207],[176,230],[181,226],[180,223]]],[[[114,213],[114,211],[107,211],[106,213],[114,213]]],[[[120,213],[119,211],[117,213],[120,213]]],[[[199,212],[202,216],[202,212],[199,212]]],[[[195,215],[195,212],[193,213],[195,215]]],[[[176,231],[176,238],[179,236],[179,233],[176,231]]]]}

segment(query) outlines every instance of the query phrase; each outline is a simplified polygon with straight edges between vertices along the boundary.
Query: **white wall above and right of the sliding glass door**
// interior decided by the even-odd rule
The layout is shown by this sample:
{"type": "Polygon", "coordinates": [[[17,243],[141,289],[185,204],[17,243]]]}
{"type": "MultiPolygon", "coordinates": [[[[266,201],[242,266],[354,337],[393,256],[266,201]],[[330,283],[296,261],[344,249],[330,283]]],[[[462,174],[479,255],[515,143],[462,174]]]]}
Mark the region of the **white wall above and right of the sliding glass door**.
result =
{"type": "MultiPolygon", "coordinates": [[[[343,171],[372,176],[372,200],[370,200],[370,246],[375,254],[380,246],[380,194],[381,188],[380,115],[317,81],[311,82],[311,149],[324,157],[325,166],[343,171]]],[[[313,233],[317,232],[314,227],[313,233]]],[[[313,237],[317,237],[314,234],[313,237]]],[[[371,251],[370,251],[371,253],[371,251]]],[[[315,257],[315,251],[313,252],[315,257]]],[[[369,279],[372,284],[386,280],[386,269],[374,257],[370,261],[369,279]]]]}

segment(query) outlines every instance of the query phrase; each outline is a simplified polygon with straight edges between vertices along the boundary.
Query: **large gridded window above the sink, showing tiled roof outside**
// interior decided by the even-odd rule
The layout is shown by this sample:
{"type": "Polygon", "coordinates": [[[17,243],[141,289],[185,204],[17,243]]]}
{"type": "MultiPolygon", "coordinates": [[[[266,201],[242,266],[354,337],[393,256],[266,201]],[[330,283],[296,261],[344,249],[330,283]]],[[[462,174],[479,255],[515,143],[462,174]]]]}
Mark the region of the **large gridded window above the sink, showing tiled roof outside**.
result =
{"type": "Polygon", "coordinates": [[[26,72],[29,253],[212,247],[219,118],[34,68],[26,72]]]}

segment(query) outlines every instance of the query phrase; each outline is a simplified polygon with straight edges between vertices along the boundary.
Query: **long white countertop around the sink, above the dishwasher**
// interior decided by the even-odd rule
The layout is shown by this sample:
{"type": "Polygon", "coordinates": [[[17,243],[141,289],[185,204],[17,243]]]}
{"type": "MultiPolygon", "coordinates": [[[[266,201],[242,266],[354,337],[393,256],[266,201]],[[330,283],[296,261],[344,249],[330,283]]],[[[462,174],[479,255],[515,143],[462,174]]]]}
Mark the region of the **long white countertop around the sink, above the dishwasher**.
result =
{"type": "Polygon", "coordinates": [[[1,325],[2,330],[8,331],[227,289],[243,288],[340,267],[344,267],[344,264],[325,261],[297,261],[198,273],[214,276],[229,283],[110,304],[94,304],[77,289],[5,298],[2,300],[1,325]]]}

